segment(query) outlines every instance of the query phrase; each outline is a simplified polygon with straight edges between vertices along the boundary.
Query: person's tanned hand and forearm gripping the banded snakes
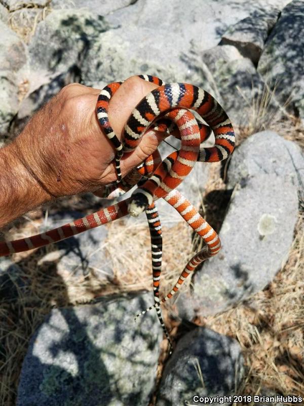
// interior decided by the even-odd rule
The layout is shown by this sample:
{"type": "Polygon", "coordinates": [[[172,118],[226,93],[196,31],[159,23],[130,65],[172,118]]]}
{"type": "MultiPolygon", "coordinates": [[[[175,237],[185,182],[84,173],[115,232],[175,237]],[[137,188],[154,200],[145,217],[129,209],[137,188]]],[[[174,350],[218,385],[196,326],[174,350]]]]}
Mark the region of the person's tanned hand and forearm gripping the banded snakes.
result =
{"type": "MultiPolygon", "coordinates": [[[[138,102],[157,85],[127,79],[113,95],[108,116],[119,138],[138,102]]],[[[96,192],[116,180],[116,151],[95,112],[100,90],[65,86],[19,136],[0,149],[0,227],[59,196],[96,192]]],[[[123,176],[153,153],[165,135],[149,130],[121,161],[123,176]]]]}

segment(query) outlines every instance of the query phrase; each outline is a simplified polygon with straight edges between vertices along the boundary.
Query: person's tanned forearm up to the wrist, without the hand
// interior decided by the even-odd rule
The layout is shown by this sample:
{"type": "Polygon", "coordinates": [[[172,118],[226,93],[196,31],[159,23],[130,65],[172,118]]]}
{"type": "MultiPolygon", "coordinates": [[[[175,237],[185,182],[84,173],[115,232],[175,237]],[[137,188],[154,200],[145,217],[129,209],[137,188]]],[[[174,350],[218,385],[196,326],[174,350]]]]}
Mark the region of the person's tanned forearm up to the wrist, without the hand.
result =
{"type": "Polygon", "coordinates": [[[0,228],[51,198],[17,151],[14,143],[0,149],[0,228]]]}

